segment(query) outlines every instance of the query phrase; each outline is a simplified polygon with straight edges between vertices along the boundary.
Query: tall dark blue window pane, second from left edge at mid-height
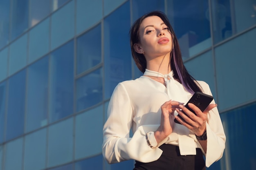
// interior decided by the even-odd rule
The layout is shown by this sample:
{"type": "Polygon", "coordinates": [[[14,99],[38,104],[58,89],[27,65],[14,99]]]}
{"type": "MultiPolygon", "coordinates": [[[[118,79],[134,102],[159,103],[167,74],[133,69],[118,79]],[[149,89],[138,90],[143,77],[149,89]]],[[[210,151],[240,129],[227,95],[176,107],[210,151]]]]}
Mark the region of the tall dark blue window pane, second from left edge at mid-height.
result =
{"type": "Polygon", "coordinates": [[[26,70],[9,79],[6,140],[23,134],[25,112],[26,70]]]}

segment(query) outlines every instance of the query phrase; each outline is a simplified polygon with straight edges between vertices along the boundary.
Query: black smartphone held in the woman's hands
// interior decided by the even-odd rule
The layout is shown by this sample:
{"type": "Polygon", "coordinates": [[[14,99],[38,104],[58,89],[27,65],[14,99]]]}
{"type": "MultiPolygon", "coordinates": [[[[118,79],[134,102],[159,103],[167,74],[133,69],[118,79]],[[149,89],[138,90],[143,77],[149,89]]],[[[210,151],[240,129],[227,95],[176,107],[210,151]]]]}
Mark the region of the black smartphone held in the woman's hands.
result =
{"type": "MultiPolygon", "coordinates": [[[[207,106],[211,103],[213,97],[211,95],[207,95],[201,92],[195,92],[194,95],[189,99],[189,102],[186,103],[185,107],[188,108],[191,112],[194,112],[191,108],[189,108],[188,104],[193,103],[197,106],[202,112],[207,108],[207,106]]],[[[182,120],[184,120],[180,115],[178,115],[182,120]]],[[[177,119],[174,119],[174,122],[180,124],[177,119]]]]}

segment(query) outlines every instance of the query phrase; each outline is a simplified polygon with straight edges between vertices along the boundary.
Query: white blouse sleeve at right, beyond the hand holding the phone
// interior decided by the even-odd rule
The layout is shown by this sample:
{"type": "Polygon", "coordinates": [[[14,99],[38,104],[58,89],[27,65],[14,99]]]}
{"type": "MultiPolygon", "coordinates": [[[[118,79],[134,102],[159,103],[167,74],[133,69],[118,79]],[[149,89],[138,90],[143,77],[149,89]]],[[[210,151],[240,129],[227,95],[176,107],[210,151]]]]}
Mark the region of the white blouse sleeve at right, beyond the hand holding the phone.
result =
{"type": "MultiPolygon", "coordinates": [[[[204,88],[204,93],[212,95],[209,85],[206,85],[207,88],[204,88]]],[[[214,100],[212,103],[215,103],[214,100]]],[[[212,163],[218,161],[222,157],[225,149],[226,136],[217,107],[209,111],[206,130],[207,153],[205,153],[205,164],[209,167],[212,163]]]]}

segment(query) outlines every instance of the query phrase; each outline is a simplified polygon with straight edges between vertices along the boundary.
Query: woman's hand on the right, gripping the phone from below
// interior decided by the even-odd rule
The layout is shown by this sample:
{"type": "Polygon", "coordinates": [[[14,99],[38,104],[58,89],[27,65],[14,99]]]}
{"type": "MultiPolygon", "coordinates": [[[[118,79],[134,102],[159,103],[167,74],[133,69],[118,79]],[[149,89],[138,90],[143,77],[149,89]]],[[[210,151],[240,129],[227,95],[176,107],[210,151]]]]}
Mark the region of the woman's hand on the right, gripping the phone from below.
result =
{"type": "Polygon", "coordinates": [[[179,108],[186,114],[184,114],[180,109],[176,108],[176,111],[179,115],[185,120],[183,121],[179,117],[175,117],[177,121],[184,126],[186,126],[191,132],[195,133],[197,136],[201,136],[206,130],[206,121],[208,112],[216,107],[217,104],[209,104],[209,106],[202,112],[197,106],[192,103],[189,103],[189,107],[195,111],[195,114],[192,113],[189,109],[180,105],[179,108]]]}

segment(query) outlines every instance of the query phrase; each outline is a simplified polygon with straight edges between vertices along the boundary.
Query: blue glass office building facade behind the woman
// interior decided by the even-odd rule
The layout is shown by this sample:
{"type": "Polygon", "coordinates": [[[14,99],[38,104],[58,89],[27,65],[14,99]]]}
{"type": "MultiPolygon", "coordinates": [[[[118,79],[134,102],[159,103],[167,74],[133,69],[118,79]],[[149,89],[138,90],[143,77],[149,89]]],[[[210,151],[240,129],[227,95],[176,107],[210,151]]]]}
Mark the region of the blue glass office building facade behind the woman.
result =
{"type": "Polygon", "coordinates": [[[0,170],[133,168],[103,160],[102,128],[118,82],[142,75],[128,32],[152,10],[218,103],[226,149],[208,169],[256,169],[256,0],[1,0],[0,170]]]}

